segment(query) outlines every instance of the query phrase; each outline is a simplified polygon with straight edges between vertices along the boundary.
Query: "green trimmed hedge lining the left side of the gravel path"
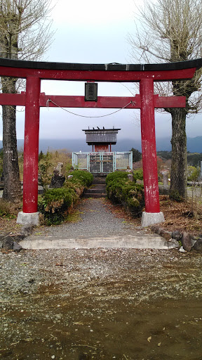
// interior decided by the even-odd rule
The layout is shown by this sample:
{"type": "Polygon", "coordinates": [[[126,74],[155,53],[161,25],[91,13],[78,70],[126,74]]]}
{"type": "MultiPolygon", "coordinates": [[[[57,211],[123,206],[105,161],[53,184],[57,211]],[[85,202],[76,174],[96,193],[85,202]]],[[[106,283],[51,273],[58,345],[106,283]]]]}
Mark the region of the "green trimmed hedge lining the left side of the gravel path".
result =
{"type": "Polygon", "coordinates": [[[43,193],[38,207],[46,225],[61,224],[67,217],[69,209],[83,194],[84,188],[93,182],[93,175],[88,172],[76,170],[71,175],[73,177],[65,181],[65,186],[62,188],[51,188],[43,193]]]}

